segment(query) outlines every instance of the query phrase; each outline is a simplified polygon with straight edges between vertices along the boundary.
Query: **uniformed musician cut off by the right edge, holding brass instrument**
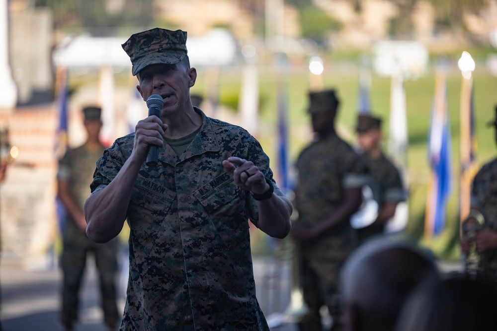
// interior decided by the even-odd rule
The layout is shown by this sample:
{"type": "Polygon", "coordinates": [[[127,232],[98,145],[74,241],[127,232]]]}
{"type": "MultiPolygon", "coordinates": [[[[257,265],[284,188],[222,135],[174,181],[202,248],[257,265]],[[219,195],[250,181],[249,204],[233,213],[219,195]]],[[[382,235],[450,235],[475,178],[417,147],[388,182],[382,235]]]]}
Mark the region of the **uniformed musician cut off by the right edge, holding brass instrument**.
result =
{"type": "MultiPolygon", "coordinates": [[[[494,138],[497,142],[497,106],[496,119],[490,122],[489,126],[496,129],[494,138]]],[[[486,264],[486,274],[497,281],[497,158],[485,164],[473,179],[471,211],[468,219],[470,218],[484,224],[483,229],[476,232],[473,240],[477,252],[482,257],[482,254],[485,255],[480,263],[486,264]]],[[[471,240],[463,235],[461,238],[463,253],[467,255],[470,247],[471,240]]]]}

